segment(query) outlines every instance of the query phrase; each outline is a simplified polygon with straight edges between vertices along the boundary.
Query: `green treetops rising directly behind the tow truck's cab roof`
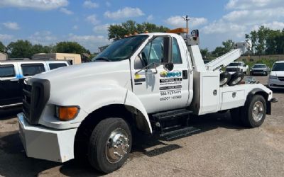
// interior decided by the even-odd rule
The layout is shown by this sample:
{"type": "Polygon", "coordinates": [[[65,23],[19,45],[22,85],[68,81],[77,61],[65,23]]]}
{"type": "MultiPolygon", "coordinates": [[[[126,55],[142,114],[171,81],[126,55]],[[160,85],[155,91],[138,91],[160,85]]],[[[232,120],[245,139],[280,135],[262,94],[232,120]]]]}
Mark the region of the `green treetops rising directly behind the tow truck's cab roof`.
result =
{"type": "Polygon", "coordinates": [[[163,25],[155,25],[153,23],[136,23],[135,21],[126,21],[118,25],[109,26],[109,39],[119,40],[124,38],[124,35],[133,33],[144,33],[148,31],[153,32],[165,32],[169,28],[163,25]]]}

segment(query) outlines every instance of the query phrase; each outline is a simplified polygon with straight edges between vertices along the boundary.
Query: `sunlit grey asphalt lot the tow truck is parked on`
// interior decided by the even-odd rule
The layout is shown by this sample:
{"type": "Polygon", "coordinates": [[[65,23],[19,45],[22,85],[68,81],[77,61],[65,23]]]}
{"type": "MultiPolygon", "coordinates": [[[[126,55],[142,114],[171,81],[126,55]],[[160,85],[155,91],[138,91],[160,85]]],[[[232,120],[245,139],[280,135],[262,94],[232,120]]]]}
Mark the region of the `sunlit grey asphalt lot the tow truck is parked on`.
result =
{"type": "MultiPolygon", "coordinates": [[[[267,76],[256,76],[267,84],[267,76]]],[[[107,176],[284,176],[284,91],[275,91],[272,115],[261,127],[232,124],[229,113],[192,122],[200,132],[170,142],[142,138],[129,161],[107,176]]],[[[0,176],[102,176],[74,160],[65,164],[27,158],[16,113],[0,115],[0,176]]]]}

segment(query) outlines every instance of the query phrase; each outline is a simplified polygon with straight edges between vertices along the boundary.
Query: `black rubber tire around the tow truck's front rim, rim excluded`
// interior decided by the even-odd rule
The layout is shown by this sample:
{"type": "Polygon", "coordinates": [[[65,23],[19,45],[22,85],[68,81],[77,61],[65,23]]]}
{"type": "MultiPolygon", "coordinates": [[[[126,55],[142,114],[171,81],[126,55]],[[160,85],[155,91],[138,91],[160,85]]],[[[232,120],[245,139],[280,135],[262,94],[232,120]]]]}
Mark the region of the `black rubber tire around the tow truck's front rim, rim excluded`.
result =
{"type": "Polygon", "coordinates": [[[99,122],[94,127],[92,135],[89,139],[88,146],[88,159],[89,163],[98,171],[104,173],[111,173],[116,169],[119,169],[129,157],[132,144],[131,130],[127,122],[121,118],[107,118],[99,122]],[[109,142],[109,136],[114,130],[124,130],[129,139],[129,148],[127,154],[117,162],[111,163],[107,158],[107,142],[109,142]]]}

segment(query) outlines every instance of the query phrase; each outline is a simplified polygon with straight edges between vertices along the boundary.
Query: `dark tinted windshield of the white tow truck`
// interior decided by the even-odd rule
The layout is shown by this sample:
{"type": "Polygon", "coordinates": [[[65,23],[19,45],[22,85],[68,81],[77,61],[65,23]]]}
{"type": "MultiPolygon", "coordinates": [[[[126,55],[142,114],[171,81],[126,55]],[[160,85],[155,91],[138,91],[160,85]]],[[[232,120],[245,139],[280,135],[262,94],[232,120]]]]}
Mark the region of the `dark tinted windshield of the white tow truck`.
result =
{"type": "Polygon", "coordinates": [[[94,57],[92,61],[117,62],[128,59],[146,38],[148,38],[148,35],[134,35],[129,38],[116,40],[97,57],[94,57]]]}

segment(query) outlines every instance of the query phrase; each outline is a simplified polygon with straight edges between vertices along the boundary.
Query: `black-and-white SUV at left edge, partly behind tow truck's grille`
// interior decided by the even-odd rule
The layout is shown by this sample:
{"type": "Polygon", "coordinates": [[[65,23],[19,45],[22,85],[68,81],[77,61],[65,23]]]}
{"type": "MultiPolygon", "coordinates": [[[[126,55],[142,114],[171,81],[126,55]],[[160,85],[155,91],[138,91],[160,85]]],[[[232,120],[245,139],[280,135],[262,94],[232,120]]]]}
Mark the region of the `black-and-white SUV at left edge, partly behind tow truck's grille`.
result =
{"type": "Polygon", "coordinates": [[[68,65],[70,64],[63,60],[0,61],[0,110],[22,105],[24,79],[68,65]]]}

